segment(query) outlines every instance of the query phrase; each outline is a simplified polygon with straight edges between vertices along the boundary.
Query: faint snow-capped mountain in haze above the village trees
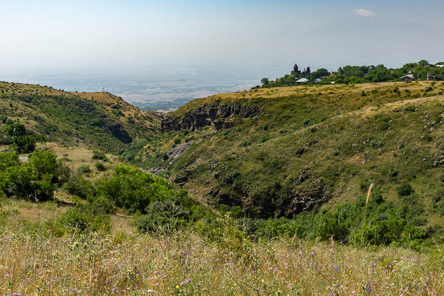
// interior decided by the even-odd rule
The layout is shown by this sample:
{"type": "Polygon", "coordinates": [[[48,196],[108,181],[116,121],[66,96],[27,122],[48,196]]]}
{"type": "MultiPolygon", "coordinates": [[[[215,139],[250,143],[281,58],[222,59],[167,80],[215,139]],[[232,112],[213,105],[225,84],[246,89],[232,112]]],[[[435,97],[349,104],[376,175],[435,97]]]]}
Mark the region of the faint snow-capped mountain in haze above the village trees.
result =
{"type": "Polygon", "coordinates": [[[427,47],[432,40],[434,46],[444,46],[443,38],[431,34],[434,30],[430,29],[415,20],[382,19],[373,12],[355,9],[347,17],[307,34],[316,37],[316,44],[311,45],[319,54],[338,51],[352,64],[370,63],[380,56],[401,65],[406,57],[429,58],[427,47]]]}

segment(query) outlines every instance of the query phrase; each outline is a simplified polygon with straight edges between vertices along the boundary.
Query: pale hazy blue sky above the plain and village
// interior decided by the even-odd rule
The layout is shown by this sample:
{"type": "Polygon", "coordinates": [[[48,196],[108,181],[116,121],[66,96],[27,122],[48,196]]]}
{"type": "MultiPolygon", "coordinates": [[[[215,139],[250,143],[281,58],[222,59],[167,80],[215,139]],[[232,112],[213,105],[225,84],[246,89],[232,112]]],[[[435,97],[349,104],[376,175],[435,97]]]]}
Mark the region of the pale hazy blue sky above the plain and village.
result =
{"type": "Polygon", "coordinates": [[[0,71],[437,62],[443,12],[443,0],[1,0],[0,71]]]}

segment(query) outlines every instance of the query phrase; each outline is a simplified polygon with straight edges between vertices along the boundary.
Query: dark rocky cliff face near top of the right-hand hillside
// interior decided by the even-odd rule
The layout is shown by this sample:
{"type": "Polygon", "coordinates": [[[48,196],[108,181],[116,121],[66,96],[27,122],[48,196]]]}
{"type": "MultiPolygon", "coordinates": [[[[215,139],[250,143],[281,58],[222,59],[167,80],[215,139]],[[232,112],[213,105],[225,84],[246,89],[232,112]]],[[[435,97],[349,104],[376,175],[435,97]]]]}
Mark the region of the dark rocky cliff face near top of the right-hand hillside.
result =
{"type": "Polygon", "coordinates": [[[169,116],[162,120],[161,129],[169,131],[182,131],[188,129],[194,131],[199,127],[214,125],[217,130],[229,128],[234,122],[228,119],[234,115],[241,117],[256,116],[262,111],[255,106],[243,106],[238,104],[205,105],[196,110],[187,111],[183,116],[169,116]]]}

